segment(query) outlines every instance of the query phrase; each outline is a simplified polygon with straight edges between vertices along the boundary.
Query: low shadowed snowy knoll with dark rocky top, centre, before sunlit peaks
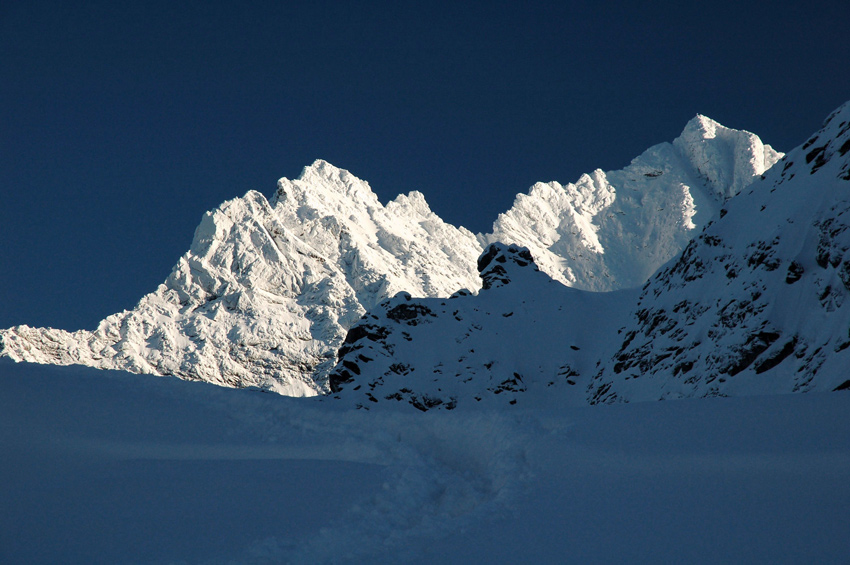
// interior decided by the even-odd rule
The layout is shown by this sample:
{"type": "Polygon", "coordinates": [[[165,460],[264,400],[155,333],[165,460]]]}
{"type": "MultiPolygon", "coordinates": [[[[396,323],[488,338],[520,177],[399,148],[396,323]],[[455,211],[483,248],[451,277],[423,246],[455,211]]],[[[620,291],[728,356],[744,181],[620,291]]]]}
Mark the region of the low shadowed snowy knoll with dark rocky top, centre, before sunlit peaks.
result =
{"type": "Polygon", "coordinates": [[[478,295],[400,293],[370,310],[339,350],[336,396],[364,409],[404,402],[423,411],[580,396],[570,390],[575,377],[595,368],[636,293],[565,287],[516,245],[491,244],[478,268],[478,295]]]}

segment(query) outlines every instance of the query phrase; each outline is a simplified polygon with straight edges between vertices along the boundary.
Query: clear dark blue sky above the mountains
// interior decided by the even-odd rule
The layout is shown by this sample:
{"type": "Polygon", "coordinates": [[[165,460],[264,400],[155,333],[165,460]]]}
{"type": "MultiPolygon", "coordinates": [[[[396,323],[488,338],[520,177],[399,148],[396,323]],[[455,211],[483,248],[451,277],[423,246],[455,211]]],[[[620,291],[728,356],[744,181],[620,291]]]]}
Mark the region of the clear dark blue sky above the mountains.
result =
{"type": "Polygon", "coordinates": [[[850,98],[846,1],[297,4],[0,2],[0,327],[132,308],[316,158],[487,231],[697,112],[787,150],[850,98]]]}

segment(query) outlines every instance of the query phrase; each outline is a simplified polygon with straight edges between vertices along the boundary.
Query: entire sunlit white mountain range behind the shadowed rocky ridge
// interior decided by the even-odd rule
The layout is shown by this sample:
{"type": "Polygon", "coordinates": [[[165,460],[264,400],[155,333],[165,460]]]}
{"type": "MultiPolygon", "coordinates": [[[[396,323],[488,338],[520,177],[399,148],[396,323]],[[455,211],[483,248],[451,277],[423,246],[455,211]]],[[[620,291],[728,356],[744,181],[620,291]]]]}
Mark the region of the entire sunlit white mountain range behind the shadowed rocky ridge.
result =
{"type": "Polygon", "coordinates": [[[577,288],[641,284],[726,198],[780,154],[753,134],[697,116],[672,144],[623,171],[535,185],[489,235],[443,222],[418,192],[382,205],[324,161],[207,213],[163,285],[96,330],[17,326],[0,355],[176,375],[286,395],[327,391],[346,330],[399,291],[476,290],[485,243],[529,247],[541,270],[577,288]]]}

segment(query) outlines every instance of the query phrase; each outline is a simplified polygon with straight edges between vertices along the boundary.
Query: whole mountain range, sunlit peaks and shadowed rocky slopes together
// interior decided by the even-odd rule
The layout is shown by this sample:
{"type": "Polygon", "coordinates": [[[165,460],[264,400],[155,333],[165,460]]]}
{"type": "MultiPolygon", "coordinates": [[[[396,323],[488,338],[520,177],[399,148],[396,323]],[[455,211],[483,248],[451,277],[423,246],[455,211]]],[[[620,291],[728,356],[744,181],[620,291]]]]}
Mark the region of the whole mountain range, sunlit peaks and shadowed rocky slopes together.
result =
{"type": "Polygon", "coordinates": [[[316,161],[207,213],[135,309],[2,330],[0,354],[363,408],[847,388],[848,114],[786,156],[697,116],[489,234],[316,161]]]}

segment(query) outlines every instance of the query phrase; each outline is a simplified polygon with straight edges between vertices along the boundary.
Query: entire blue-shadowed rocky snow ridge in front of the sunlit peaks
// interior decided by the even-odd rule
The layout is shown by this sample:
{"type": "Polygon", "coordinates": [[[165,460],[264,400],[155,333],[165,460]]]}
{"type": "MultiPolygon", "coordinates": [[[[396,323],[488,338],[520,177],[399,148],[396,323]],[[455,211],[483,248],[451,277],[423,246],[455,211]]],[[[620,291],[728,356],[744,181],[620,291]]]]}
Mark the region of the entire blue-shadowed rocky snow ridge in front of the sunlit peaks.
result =
{"type": "Polygon", "coordinates": [[[642,290],[570,289],[492,244],[483,290],[400,294],[330,376],[362,408],[558,405],[850,388],[850,102],[726,202],[642,290]]]}

